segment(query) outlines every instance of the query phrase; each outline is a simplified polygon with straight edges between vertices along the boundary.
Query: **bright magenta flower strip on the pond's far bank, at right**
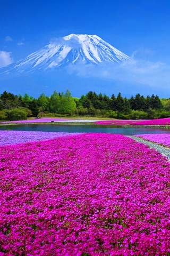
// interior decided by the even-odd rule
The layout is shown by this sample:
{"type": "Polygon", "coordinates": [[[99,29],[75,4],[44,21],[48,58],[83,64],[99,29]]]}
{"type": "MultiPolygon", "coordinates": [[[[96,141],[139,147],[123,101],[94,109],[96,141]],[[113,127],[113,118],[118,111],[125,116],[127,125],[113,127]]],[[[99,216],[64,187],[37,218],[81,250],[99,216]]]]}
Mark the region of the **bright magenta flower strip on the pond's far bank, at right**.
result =
{"type": "Polygon", "coordinates": [[[103,125],[170,125],[170,118],[152,120],[106,120],[97,121],[95,123],[103,125]]]}

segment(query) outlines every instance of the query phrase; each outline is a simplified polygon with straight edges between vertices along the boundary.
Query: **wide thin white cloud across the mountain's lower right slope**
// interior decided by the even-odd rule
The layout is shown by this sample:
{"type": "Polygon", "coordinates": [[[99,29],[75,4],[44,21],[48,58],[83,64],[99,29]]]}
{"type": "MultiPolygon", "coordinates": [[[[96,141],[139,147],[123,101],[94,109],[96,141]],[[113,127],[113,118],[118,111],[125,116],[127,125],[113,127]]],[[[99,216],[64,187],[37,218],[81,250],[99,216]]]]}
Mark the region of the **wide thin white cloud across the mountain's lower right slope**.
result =
{"type": "Polygon", "coordinates": [[[134,54],[129,61],[118,64],[101,62],[95,66],[84,65],[80,62],[76,65],[70,64],[66,69],[69,74],[76,74],[80,77],[98,77],[131,85],[170,89],[169,64],[137,59],[134,54]]]}

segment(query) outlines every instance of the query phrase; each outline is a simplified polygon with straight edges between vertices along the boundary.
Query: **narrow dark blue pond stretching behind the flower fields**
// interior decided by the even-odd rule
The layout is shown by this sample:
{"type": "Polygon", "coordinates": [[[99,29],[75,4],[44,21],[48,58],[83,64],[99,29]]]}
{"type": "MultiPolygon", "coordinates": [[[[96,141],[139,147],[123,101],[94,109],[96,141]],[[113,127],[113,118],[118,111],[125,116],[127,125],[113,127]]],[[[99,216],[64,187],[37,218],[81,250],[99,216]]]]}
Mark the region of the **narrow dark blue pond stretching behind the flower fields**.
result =
{"type": "Polygon", "coordinates": [[[121,127],[111,125],[58,125],[58,124],[19,124],[3,125],[0,130],[15,131],[43,131],[43,132],[92,132],[92,133],[118,133],[125,135],[142,133],[170,133],[170,129],[148,127],[121,127]]]}

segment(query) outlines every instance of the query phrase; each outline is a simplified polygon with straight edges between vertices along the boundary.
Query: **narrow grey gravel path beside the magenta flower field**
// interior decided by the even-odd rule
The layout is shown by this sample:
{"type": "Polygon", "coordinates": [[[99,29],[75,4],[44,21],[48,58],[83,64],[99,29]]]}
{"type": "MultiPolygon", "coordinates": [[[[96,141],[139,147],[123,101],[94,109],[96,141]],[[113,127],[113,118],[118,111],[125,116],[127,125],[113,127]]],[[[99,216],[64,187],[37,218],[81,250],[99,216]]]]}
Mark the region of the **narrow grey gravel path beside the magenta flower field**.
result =
{"type": "Polygon", "coordinates": [[[127,135],[126,137],[132,138],[140,143],[148,145],[150,148],[155,148],[157,151],[159,151],[163,156],[166,156],[168,159],[170,159],[170,148],[166,148],[164,146],[157,145],[155,142],[151,142],[148,140],[144,140],[140,137],[135,137],[133,135],[127,135]]]}

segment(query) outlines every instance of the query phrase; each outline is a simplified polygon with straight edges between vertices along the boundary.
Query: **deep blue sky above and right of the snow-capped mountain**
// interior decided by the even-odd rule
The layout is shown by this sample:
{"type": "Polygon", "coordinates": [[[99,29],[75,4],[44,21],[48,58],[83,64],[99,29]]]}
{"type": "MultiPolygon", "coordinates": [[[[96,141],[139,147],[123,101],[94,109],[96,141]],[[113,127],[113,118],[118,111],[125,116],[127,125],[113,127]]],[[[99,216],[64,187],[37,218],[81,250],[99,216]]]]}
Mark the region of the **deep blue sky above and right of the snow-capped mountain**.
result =
{"type": "Polygon", "coordinates": [[[0,0],[0,67],[39,50],[53,37],[96,34],[135,58],[121,67],[123,83],[161,89],[163,78],[169,89],[169,13],[165,0],[0,0]],[[131,75],[123,79],[129,70],[131,75]]]}

